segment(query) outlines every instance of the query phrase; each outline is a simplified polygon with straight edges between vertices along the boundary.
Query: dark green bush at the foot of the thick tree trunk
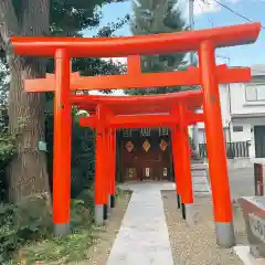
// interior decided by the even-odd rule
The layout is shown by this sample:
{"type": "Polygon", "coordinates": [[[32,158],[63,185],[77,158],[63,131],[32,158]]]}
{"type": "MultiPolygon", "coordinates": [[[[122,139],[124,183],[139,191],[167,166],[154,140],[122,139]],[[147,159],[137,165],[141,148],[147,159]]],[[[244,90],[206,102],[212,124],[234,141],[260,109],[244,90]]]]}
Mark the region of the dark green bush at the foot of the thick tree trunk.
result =
{"type": "Polygon", "coordinates": [[[0,204],[0,264],[22,244],[51,234],[52,213],[47,194],[23,199],[17,204],[0,204]],[[46,214],[50,212],[50,214],[46,214]]]}

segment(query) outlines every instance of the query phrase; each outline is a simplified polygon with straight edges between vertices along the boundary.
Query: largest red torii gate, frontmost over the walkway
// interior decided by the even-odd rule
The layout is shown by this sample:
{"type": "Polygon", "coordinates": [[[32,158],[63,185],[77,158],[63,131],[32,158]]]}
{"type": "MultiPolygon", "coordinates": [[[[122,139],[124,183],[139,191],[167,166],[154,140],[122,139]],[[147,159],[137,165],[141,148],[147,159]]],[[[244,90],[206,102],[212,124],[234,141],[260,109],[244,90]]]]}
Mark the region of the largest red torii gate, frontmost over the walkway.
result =
{"type": "MultiPolygon", "coordinates": [[[[55,85],[54,99],[54,179],[53,179],[53,214],[57,233],[68,230],[70,222],[70,179],[71,179],[71,89],[109,89],[140,88],[146,86],[202,85],[203,115],[208,141],[209,169],[214,204],[214,220],[218,244],[230,247],[234,244],[233,218],[230,199],[227,167],[222,130],[219,73],[215,65],[216,47],[241,45],[256,41],[261,31],[259,23],[216,28],[203,31],[157,34],[132,38],[38,38],[13,36],[11,43],[15,53],[24,56],[54,56],[55,85]],[[189,71],[158,74],[141,74],[139,67],[127,75],[91,78],[93,87],[72,84],[71,57],[119,57],[129,55],[168,54],[176,52],[198,51],[200,67],[194,72],[197,78],[190,80],[189,71]],[[94,78],[94,82],[93,82],[94,78]],[[113,80],[109,80],[113,78],[113,80]],[[110,82],[109,82],[110,81],[110,82]],[[116,84],[116,81],[119,82],[116,84]],[[115,86],[112,82],[115,82],[115,86]],[[112,86],[107,85],[109,83],[112,86]],[[96,86],[97,84],[97,86],[96,86]],[[65,200],[66,199],[66,200],[65,200]]],[[[226,70],[224,78],[233,70],[226,70]]],[[[239,70],[240,71],[240,70],[239,70]]],[[[248,81],[250,70],[234,82],[248,81]],[[242,78],[241,78],[242,77],[242,78]]],[[[83,77],[82,77],[83,78],[83,77]]],[[[89,81],[88,81],[89,82],[89,81]]],[[[54,86],[50,86],[54,87],[54,86]]],[[[41,88],[46,92],[47,86],[41,88]]],[[[35,89],[36,92],[38,89],[35,89]]],[[[41,91],[39,91],[41,92],[41,91]]],[[[98,120],[104,120],[100,104],[97,107],[98,120]]],[[[178,107],[183,119],[183,105],[178,107]]],[[[100,125],[103,127],[104,124],[100,125]]],[[[187,135],[187,130],[177,127],[177,131],[187,135]]],[[[100,136],[98,135],[98,138],[100,136]]],[[[182,138],[181,138],[182,139],[182,138]]],[[[188,156],[182,157],[182,162],[188,156]]],[[[184,165],[188,163],[187,161],[184,165]]],[[[184,187],[182,187],[184,189],[184,187]]]]}

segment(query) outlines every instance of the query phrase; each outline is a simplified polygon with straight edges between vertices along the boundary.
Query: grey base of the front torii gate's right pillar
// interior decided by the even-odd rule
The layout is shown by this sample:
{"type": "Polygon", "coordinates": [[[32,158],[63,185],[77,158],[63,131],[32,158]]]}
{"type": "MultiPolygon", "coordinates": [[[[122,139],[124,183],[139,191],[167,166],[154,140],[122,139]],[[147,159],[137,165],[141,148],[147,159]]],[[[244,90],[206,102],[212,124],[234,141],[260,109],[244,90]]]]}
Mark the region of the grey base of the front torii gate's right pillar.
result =
{"type": "Polygon", "coordinates": [[[223,248],[230,248],[235,245],[234,224],[215,222],[216,243],[223,248]]]}

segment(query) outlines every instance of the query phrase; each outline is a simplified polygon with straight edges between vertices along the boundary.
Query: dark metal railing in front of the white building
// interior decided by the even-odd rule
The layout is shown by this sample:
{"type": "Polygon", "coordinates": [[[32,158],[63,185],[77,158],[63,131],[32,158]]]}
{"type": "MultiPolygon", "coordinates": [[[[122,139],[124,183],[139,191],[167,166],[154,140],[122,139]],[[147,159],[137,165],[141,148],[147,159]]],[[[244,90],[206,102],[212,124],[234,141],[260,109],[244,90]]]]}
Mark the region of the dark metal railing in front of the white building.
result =
{"type": "MultiPolygon", "coordinates": [[[[248,158],[248,142],[247,141],[234,141],[226,142],[226,157],[227,158],[248,158]]],[[[205,158],[206,155],[206,144],[199,145],[200,157],[205,158]]]]}

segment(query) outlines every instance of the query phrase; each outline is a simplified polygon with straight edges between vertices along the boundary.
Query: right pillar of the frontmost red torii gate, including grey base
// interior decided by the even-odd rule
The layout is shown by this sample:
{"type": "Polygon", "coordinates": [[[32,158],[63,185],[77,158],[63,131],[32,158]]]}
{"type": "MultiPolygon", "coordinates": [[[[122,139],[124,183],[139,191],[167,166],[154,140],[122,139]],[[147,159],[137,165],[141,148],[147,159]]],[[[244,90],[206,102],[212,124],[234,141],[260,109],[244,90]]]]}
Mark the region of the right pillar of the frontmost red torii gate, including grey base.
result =
{"type": "Polygon", "coordinates": [[[212,42],[202,42],[199,62],[216,241],[231,247],[235,236],[214,51],[212,42]]]}

